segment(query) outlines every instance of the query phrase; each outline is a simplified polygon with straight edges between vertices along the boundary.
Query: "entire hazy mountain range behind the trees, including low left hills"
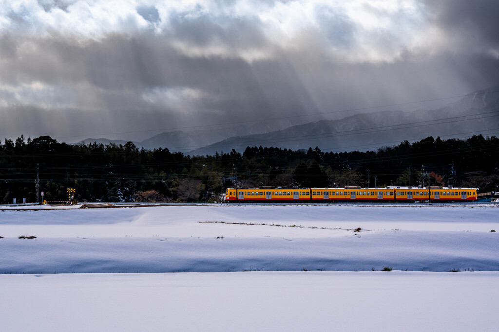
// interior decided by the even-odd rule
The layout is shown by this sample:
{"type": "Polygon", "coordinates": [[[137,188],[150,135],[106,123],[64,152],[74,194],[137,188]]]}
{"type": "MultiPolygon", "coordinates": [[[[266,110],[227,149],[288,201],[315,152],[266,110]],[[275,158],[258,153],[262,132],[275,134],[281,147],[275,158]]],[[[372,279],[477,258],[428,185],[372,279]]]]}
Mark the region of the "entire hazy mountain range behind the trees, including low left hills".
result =
{"type": "MultiPolygon", "coordinates": [[[[437,110],[360,113],[342,119],[299,125],[291,125],[284,119],[278,124],[282,127],[279,130],[272,130],[270,124],[262,122],[226,129],[170,131],[133,143],[139,148],[162,147],[192,155],[214,154],[216,151],[232,149],[243,152],[247,146],[259,145],[293,150],[318,146],[324,151],[365,151],[427,136],[450,138],[472,135],[475,131],[499,129],[498,109],[499,88],[477,91],[437,110]]],[[[87,138],[77,144],[94,141],[102,144],[127,142],[87,138]]]]}

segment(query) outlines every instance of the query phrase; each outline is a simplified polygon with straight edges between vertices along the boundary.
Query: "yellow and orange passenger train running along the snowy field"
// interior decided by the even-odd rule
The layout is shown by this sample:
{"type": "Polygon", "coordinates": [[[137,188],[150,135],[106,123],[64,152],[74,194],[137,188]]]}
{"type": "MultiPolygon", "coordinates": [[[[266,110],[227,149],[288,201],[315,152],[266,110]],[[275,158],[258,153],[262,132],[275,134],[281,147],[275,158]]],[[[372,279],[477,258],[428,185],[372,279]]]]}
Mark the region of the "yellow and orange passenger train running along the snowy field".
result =
{"type": "Polygon", "coordinates": [[[229,203],[336,203],[336,202],[473,202],[476,188],[386,187],[386,188],[227,188],[229,203]]]}

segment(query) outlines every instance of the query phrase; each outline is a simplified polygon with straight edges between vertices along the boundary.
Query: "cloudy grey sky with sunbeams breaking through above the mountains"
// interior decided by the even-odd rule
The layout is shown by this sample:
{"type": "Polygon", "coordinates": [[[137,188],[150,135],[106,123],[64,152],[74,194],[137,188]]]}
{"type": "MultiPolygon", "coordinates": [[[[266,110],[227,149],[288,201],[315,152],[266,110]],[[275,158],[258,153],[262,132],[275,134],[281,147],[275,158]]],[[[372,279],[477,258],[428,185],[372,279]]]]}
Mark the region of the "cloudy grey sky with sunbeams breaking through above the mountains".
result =
{"type": "Polygon", "coordinates": [[[0,0],[0,137],[138,140],[465,95],[498,86],[498,12],[497,0],[0,0]]]}

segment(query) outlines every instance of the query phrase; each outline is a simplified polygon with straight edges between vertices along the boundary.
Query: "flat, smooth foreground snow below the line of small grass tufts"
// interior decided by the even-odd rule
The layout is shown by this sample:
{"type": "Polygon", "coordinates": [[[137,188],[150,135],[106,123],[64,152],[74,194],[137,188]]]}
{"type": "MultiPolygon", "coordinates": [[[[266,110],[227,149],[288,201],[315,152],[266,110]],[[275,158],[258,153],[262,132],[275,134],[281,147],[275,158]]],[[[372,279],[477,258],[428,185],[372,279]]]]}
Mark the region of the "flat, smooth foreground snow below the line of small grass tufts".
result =
{"type": "Polygon", "coordinates": [[[497,331],[499,272],[0,275],[3,331],[497,331]]]}

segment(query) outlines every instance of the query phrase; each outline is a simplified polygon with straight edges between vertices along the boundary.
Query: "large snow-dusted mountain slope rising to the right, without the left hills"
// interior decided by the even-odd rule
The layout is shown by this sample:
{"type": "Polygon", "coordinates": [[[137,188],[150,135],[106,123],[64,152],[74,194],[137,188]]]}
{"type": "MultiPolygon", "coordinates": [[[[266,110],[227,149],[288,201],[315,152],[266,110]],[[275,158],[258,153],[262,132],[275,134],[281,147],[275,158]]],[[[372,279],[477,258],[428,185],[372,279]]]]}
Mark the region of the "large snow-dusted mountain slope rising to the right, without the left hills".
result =
{"type": "Polygon", "coordinates": [[[437,110],[382,111],[320,120],[257,135],[230,137],[192,154],[244,151],[247,146],[293,150],[318,146],[323,151],[369,150],[428,136],[466,137],[499,131],[499,89],[478,91],[437,110]]]}

